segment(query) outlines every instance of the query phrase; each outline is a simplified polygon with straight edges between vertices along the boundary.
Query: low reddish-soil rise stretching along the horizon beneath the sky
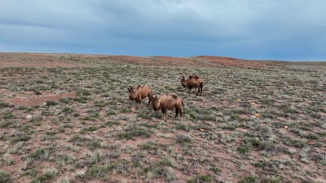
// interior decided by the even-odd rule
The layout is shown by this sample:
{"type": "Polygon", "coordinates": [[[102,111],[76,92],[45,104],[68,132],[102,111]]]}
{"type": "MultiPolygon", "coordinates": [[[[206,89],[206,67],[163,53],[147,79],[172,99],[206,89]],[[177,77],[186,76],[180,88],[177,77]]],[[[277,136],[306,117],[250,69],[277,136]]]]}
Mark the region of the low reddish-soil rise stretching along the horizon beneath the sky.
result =
{"type": "Polygon", "coordinates": [[[115,64],[137,64],[146,66],[187,66],[187,67],[240,67],[270,68],[276,63],[246,60],[221,56],[126,56],[126,55],[88,55],[55,53],[0,53],[0,67],[85,67],[82,62],[111,62],[115,64]]]}

